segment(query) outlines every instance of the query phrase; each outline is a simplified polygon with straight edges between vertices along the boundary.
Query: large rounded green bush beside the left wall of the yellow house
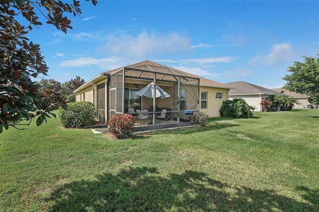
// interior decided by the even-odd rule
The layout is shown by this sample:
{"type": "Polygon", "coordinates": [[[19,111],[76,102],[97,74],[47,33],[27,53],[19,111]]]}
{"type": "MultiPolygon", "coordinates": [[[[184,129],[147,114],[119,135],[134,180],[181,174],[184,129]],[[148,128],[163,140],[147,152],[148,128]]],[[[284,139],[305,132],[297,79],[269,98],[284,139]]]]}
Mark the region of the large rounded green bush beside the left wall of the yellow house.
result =
{"type": "Polygon", "coordinates": [[[59,108],[60,123],[66,128],[81,128],[95,123],[96,111],[91,102],[68,103],[67,110],[59,108]]]}

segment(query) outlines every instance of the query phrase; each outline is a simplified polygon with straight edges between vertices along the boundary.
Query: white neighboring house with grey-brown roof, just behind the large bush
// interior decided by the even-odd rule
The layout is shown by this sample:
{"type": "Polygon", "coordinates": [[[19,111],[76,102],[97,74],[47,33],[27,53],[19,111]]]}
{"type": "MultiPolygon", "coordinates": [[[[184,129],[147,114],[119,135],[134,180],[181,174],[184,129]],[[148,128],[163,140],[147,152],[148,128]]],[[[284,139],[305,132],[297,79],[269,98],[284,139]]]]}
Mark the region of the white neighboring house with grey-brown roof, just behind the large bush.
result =
{"type": "Polygon", "coordinates": [[[255,111],[262,111],[260,103],[263,97],[268,99],[269,96],[281,94],[280,92],[246,83],[244,81],[226,83],[225,85],[233,88],[229,91],[229,100],[242,98],[248,105],[254,106],[256,108],[255,111]]]}

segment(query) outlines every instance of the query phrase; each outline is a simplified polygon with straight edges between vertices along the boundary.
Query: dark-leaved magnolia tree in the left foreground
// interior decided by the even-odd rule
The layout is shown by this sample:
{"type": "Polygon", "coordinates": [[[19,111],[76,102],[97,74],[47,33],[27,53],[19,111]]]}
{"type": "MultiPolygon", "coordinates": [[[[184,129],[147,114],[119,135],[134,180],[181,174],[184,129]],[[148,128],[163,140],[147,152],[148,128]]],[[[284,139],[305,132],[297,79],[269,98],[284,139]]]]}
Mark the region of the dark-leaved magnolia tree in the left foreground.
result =
{"type": "MultiPolygon", "coordinates": [[[[95,5],[97,0],[92,2],[95,5]]],[[[32,82],[31,78],[46,76],[48,67],[39,45],[29,41],[26,34],[42,24],[34,8],[47,19],[46,23],[66,33],[72,29],[71,20],[63,14],[79,15],[79,6],[76,0],[73,4],[60,0],[0,0],[0,133],[3,127],[17,128],[20,121],[31,121],[35,116],[40,125],[50,115],[55,116],[53,110],[66,107],[59,93],[41,90],[37,82],[32,82]],[[17,16],[24,17],[28,25],[22,26],[17,16]]]]}

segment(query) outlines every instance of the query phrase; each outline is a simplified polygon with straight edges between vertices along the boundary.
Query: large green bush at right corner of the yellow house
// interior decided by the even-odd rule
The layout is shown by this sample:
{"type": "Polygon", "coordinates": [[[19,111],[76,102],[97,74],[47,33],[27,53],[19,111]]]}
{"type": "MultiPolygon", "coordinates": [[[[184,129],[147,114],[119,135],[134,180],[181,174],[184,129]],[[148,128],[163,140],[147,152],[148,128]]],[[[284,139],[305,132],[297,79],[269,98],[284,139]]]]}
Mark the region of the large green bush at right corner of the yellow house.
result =
{"type": "Polygon", "coordinates": [[[221,117],[228,118],[251,118],[253,117],[253,106],[249,106],[244,99],[226,100],[219,109],[221,117]]]}

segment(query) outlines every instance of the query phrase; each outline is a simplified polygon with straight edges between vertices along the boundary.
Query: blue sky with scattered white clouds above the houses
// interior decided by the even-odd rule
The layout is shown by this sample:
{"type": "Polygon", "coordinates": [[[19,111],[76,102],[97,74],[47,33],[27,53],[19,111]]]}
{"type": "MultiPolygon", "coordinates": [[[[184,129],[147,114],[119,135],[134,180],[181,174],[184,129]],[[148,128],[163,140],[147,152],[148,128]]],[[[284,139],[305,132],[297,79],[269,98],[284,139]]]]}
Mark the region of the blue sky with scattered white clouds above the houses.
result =
{"type": "MultiPolygon", "coordinates": [[[[72,3],[70,0],[63,0],[72,3]]],[[[319,1],[98,0],[66,13],[67,33],[43,22],[27,36],[40,44],[48,77],[61,83],[145,60],[222,84],[281,88],[294,61],[319,53],[319,1]]],[[[38,13],[39,15],[39,13],[38,13]]],[[[38,79],[40,80],[40,79],[38,79]]]]}

